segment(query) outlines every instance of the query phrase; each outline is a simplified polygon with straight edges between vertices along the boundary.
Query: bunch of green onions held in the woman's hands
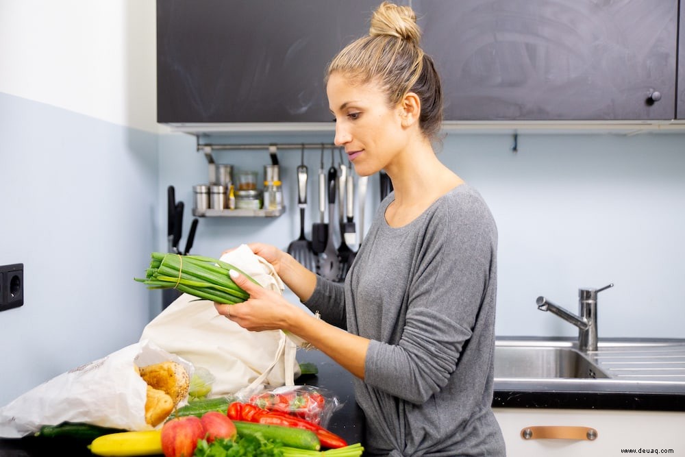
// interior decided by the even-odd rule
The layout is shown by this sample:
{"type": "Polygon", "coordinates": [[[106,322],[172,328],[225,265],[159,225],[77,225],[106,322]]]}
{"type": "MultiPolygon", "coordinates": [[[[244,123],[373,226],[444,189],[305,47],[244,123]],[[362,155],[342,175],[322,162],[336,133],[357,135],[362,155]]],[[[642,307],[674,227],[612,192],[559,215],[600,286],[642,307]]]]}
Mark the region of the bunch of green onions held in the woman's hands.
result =
{"type": "Polygon", "coordinates": [[[200,299],[232,305],[247,300],[249,294],[233,282],[229,270],[259,284],[232,264],[214,258],[162,252],[153,252],[151,257],[145,279],[134,278],[151,289],[175,288],[200,299]]]}

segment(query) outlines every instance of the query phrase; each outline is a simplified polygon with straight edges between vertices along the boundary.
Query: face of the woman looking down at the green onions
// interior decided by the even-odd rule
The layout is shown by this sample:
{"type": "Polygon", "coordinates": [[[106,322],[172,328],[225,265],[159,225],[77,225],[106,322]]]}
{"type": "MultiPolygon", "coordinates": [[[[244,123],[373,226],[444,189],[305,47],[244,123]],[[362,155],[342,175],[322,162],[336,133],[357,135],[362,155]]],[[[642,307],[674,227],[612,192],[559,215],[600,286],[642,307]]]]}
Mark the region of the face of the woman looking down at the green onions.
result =
{"type": "Polygon", "coordinates": [[[401,109],[388,108],[376,84],[350,84],[340,73],[329,76],[326,92],[336,118],[335,143],[345,147],[356,173],[385,169],[406,145],[401,109]]]}

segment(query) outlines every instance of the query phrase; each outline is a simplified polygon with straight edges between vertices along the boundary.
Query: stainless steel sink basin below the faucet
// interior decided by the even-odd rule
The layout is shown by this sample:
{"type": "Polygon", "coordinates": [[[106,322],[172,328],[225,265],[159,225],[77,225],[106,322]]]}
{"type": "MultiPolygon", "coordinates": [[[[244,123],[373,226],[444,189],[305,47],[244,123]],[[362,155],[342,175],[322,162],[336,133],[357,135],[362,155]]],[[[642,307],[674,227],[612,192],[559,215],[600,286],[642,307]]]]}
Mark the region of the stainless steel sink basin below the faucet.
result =
{"type": "Polygon", "coordinates": [[[608,378],[597,365],[571,347],[495,346],[495,379],[608,378]]]}

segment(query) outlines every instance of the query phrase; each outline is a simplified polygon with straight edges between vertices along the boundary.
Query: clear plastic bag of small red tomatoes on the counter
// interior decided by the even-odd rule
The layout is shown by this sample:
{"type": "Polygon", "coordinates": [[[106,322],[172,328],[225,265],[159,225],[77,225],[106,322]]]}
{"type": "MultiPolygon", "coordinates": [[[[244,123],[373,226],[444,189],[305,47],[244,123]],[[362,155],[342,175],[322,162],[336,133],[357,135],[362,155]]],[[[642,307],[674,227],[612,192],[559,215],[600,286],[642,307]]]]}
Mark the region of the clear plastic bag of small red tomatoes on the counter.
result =
{"type": "Polygon", "coordinates": [[[252,395],[248,403],[262,409],[287,412],[325,427],[343,407],[334,393],[315,386],[281,386],[252,395]]]}

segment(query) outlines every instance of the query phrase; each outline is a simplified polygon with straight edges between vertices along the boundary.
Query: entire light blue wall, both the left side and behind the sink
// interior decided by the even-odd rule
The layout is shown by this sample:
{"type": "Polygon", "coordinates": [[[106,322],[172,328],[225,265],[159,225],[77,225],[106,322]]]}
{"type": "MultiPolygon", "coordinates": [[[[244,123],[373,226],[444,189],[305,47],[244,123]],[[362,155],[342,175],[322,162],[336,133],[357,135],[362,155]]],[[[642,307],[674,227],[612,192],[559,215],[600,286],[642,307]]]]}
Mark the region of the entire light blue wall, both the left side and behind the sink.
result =
{"type": "MultiPolygon", "coordinates": [[[[240,135],[236,143],[326,142],[327,135],[240,135]]],[[[499,335],[573,335],[534,301],[575,310],[600,295],[601,336],[685,337],[685,135],[452,134],[440,158],[478,188],[499,227],[499,335]]],[[[262,169],[266,151],[216,153],[262,169]]],[[[299,234],[298,151],[281,151],[288,211],[278,219],[203,218],[192,251],[219,256],[299,234]]],[[[326,166],[329,158],[327,157],[326,166]]],[[[310,190],[319,153],[309,151],[310,190]]],[[[160,293],[133,281],[166,249],[166,187],[186,203],[206,182],[195,137],[151,134],[0,94],[0,264],[25,264],[25,305],[0,313],[0,405],[138,340],[160,293]]],[[[369,183],[367,224],[379,199],[369,183]]],[[[310,203],[316,197],[310,192],[310,203]]],[[[308,212],[307,227],[311,226],[308,212]]],[[[310,230],[307,230],[310,234],[310,230]]]]}

